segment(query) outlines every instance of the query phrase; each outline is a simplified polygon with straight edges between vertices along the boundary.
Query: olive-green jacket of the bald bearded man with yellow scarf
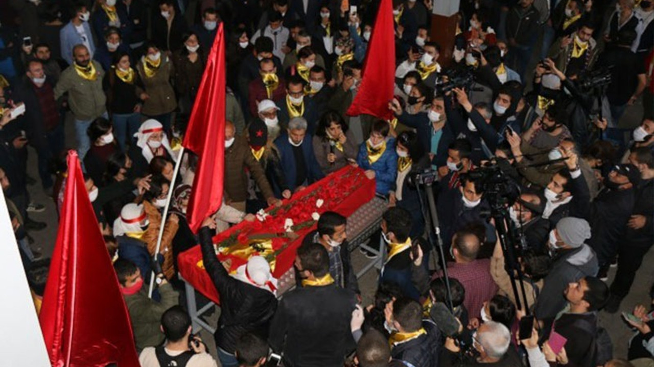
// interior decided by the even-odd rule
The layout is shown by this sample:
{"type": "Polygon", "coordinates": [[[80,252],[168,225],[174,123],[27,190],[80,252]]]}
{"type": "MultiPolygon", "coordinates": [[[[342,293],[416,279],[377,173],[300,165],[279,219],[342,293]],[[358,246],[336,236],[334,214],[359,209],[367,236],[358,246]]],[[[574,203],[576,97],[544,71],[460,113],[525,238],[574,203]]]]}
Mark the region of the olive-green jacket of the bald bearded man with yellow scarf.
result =
{"type": "Polygon", "coordinates": [[[107,97],[102,90],[102,78],[105,75],[101,65],[91,61],[97,72],[95,80],[86,80],[77,74],[71,65],[61,72],[61,78],[54,88],[54,99],[60,99],[68,92],[68,104],[76,120],[94,120],[107,111],[107,97]]]}

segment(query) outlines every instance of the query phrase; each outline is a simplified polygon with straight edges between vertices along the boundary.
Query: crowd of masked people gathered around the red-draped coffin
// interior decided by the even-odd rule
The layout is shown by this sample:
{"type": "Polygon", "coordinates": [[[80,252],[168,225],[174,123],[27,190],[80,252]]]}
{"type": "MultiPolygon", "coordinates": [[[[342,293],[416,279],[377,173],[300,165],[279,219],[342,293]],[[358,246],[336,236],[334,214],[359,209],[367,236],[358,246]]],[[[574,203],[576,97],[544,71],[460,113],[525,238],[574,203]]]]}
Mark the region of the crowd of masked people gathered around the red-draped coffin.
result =
{"type": "Polygon", "coordinates": [[[0,183],[35,304],[48,259],[29,191],[60,210],[76,148],[144,367],[651,366],[651,305],[622,301],[654,244],[653,1],[461,0],[441,44],[435,2],[392,0],[383,120],[346,114],[379,1],[3,1],[0,183]],[[219,24],[224,200],[196,234],[198,157],[179,148],[219,24]],[[336,212],[298,247],[288,293],[263,257],[218,261],[217,232],[349,165],[387,205],[370,306],[336,212]],[[198,243],[220,294],[213,356],[179,306],[177,257],[198,243]],[[628,355],[602,309],[626,311],[628,355]]]}

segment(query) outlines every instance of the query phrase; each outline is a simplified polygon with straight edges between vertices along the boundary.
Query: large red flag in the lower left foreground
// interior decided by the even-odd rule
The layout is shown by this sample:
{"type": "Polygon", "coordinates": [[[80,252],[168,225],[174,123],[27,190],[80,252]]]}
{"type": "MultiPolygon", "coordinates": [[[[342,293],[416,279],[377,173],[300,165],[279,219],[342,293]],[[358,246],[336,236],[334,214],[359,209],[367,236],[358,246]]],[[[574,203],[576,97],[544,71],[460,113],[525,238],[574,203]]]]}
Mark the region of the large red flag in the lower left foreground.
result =
{"type": "Polygon", "coordinates": [[[77,153],[68,177],[39,322],[56,367],[138,367],[129,314],[86,192],[77,153]]]}

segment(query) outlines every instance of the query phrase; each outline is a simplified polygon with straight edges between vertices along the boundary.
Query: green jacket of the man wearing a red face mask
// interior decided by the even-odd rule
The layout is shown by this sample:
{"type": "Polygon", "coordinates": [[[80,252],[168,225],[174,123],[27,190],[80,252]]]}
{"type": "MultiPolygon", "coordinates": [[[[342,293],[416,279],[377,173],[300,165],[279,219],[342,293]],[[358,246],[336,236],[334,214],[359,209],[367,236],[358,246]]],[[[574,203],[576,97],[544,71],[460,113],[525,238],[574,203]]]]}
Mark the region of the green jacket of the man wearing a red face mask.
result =
{"type": "Polygon", "coordinates": [[[143,283],[141,291],[135,295],[125,296],[125,304],[134,332],[134,342],[138,351],[145,347],[156,347],[163,343],[165,336],[161,330],[162,315],[165,310],[179,303],[179,294],[170,283],[159,287],[161,302],[148,298],[147,285],[143,283]]]}

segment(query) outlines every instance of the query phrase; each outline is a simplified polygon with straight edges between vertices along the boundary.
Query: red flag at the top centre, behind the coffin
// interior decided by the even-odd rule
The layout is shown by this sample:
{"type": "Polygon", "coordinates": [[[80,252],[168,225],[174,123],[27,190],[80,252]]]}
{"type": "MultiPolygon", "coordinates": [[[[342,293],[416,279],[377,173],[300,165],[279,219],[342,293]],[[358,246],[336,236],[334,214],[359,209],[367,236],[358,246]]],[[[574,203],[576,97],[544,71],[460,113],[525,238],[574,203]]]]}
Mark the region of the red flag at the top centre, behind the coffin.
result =
{"type": "Polygon", "coordinates": [[[369,114],[385,120],[393,118],[388,101],[393,99],[395,88],[395,30],[392,0],[381,0],[377,20],[373,27],[363,78],[347,116],[369,114]]]}

